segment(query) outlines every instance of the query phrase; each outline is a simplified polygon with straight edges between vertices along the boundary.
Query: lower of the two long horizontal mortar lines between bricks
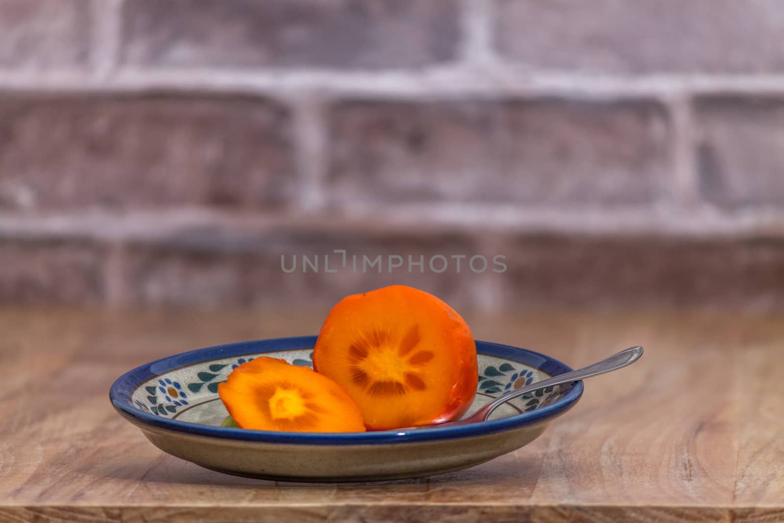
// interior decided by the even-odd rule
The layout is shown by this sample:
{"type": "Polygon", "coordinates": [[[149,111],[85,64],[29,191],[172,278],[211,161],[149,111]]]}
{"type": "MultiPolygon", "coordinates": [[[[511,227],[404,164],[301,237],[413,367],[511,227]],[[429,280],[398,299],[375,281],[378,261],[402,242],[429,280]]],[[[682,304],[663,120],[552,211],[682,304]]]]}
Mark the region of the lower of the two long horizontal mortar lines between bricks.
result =
{"type": "Polygon", "coordinates": [[[516,205],[396,205],[335,212],[247,213],[209,208],[158,211],[82,210],[50,215],[0,214],[0,239],[80,238],[99,242],[166,242],[189,231],[241,238],[279,231],[346,231],[347,234],[554,234],[630,238],[648,235],[688,239],[784,239],[784,212],[716,212],[702,206],[677,209],[528,209],[516,205]],[[459,210],[459,212],[456,212],[459,210]]]}

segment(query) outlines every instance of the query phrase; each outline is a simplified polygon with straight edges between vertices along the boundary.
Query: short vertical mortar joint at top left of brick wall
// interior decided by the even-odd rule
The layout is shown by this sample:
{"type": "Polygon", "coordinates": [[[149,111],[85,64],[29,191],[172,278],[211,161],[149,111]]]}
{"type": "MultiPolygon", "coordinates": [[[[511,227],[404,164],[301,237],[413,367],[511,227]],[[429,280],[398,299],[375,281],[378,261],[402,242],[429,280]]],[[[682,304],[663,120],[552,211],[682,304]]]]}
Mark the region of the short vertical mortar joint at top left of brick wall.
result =
{"type": "Polygon", "coordinates": [[[125,0],[93,0],[90,64],[94,82],[105,82],[117,67],[122,5],[125,0]]]}

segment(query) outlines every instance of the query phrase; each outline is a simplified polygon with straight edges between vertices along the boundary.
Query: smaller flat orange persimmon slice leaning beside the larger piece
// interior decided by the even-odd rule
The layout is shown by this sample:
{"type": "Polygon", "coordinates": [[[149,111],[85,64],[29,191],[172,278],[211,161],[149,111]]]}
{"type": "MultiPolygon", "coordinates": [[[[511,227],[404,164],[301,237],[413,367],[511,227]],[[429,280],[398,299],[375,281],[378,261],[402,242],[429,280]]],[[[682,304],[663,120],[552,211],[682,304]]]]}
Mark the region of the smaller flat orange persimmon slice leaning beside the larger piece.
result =
{"type": "Polygon", "coordinates": [[[243,363],[218,386],[239,427],[294,432],[364,432],[359,407],[337,383],[278,358],[243,363]]]}

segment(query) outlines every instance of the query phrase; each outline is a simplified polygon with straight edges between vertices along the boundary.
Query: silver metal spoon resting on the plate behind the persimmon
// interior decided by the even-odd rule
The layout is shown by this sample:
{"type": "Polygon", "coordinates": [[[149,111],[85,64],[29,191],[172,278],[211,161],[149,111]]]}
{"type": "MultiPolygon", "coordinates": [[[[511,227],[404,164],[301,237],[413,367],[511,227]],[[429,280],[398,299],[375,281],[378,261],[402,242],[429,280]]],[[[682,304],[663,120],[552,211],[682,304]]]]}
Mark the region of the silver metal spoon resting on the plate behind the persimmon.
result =
{"type": "Polygon", "coordinates": [[[626,367],[626,365],[631,365],[638,358],[642,356],[642,347],[629,347],[628,349],[621,350],[618,354],[613,354],[609,358],[606,358],[602,361],[597,361],[593,365],[588,365],[587,367],[583,367],[582,369],[573,370],[572,372],[566,372],[564,374],[559,374],[558,376],[553,376],[552,378],[548,378],[546,380],[538,381],[536,383],[531,383],[526,387],[520,387],[516,390],[511,390],[506,394],[502,394],[498,398],[495,398],[493,401],[490,401],[487,405],[482,407],[481,409],[474,412],[474,414],[468,416],[467,418],[458,419],[457,421],[448,421],[445,423],[433,423],[431,425],[419,425],[417,427],[406,427],[405,429],[398,429],[398,430],[410,430],[410,429],[424,429],[424,428],[434,428],[434,427],[455,427],[456,425],[466,425],[467,423],[477,423],[481,421],[487,421],[488,416],[499,407],[499,405],[503,405],[506,401],[509,401],[514,398],[519,398],[523,394],[528,394],[534,390],[543,389],[545,387],[554,387],[555,385],[563,385],[564,383],[574,383],[575,381],[583,380],[585,378],[590,378],[591,376],[598,376],[599,374],[604,374],[605,372],[611,372],[614,370],[621,369],[622,367],[626,367]]]}

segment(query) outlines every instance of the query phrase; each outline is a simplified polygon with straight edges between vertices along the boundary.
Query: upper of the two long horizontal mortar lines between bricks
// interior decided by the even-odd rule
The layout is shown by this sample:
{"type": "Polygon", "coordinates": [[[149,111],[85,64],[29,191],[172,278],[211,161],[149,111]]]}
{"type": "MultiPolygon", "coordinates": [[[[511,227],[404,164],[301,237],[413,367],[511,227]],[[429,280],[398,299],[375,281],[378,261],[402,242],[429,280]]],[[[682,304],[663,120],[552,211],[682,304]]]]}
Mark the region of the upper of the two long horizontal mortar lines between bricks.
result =
{"type": "Polygon", "coordinates": [[[85,78],[79,71],[0,71],[0,89],[26,93],[138,93],[147,90],[201,90],[291,96],[433,98],[441,96],[585,96],[600,99],[689,95],[784,95],[784,74],[648,74],[610,76],[530,71],[493,62],[430,67],[422,71],[182,71],[120,68],[107,78],[85,78]]]}

